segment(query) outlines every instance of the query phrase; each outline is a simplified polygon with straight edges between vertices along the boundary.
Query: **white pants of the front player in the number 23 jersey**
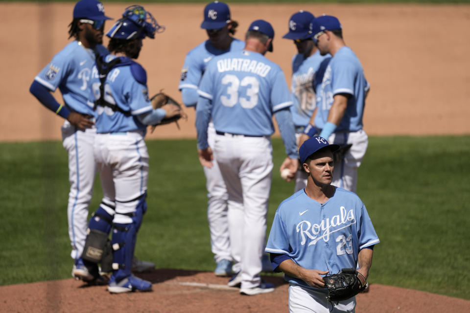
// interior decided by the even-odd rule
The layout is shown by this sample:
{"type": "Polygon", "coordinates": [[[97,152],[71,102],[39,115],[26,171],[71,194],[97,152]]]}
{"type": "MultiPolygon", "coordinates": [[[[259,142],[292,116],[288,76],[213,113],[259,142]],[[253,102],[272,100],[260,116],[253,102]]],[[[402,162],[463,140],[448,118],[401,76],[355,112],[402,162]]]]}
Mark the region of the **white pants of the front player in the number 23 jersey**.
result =
{"type": "Polygon", "coordinates": [[[327,291],[311,290],[289,284],[290,313],[354,313],[356,298],[331,303],[327,291]]]}

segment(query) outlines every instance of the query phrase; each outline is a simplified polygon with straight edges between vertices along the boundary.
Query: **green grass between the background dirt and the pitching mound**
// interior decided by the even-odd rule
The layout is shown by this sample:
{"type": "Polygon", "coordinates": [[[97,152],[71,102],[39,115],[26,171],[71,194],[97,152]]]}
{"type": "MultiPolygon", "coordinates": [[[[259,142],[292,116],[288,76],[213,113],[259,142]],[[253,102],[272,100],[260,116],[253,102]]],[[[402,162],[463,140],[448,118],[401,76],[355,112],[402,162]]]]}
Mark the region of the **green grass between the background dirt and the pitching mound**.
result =
{"type": "MultiPolygon", "coordinates": [[[[157,268],[214,268],[195,140],[148,141],[148,212],[136,255],[157,268]]],[[[275,170],[268,229],[293,191],[275,170]]],[[[372,137],[358,194],[381,243],[372,283],[470,299],[470,136],[372,137]]],[[[0,144],[0,285],[70,278],[68,166],[60,142],[0,144]]],[[[93,211],[100,199],[97,179],[93,211]]]]}

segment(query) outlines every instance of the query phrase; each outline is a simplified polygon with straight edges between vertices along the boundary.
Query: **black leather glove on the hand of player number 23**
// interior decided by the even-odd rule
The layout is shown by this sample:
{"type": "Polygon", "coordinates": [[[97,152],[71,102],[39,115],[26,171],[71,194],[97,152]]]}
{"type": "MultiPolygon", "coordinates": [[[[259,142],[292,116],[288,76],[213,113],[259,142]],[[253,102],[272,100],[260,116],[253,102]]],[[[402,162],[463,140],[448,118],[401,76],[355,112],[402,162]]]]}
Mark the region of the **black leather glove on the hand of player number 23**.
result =
{"type": "Polygon", "coordinates": [[[366,278],[354,268],[323,277],[328,288],[328,300],[337,302],[349,299],[366,289],[366,278]]]}

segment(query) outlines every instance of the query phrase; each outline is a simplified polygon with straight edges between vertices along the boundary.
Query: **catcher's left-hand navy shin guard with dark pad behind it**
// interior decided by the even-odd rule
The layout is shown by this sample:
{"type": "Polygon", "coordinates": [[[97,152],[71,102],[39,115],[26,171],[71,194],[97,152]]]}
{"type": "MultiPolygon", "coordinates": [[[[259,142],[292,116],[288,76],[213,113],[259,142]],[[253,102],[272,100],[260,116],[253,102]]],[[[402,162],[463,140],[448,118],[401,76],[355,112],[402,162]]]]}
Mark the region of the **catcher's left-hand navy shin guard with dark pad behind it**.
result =
{"type": "Polygon", "coordinates": [[[82,259],[92,263],[102,263],[102,260],[106,259],[106,253],[110,253],[108,235],[111,231],[113,216],[102,206],[106,206],[109,211],[114,212],[114,208],[111,209],[110,206],[102,202],[90,219],[82,259]]]}

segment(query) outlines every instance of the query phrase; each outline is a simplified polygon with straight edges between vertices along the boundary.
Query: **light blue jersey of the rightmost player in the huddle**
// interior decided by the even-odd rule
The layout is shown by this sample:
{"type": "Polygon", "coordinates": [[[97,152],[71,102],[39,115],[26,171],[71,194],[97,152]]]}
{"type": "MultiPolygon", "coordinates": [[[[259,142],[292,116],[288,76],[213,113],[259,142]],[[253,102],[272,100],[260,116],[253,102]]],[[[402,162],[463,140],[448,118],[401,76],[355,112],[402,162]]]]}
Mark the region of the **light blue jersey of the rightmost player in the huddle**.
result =
{"type": "Polygon", "coordinates": [[[322,129],[328,121],[333,96],[338,93],[347,93],[351,95],[348,99],[348,107],[335,132],[361,130],[368,89],[369,84],[364,77],[361,62],[350,47],[343,46],[331,58],[319,91],[317,90],[318,110],[315,115],[315,126],[322,129]]]}

